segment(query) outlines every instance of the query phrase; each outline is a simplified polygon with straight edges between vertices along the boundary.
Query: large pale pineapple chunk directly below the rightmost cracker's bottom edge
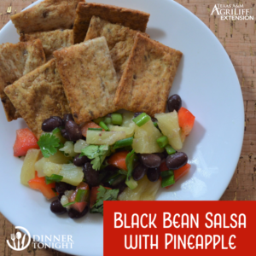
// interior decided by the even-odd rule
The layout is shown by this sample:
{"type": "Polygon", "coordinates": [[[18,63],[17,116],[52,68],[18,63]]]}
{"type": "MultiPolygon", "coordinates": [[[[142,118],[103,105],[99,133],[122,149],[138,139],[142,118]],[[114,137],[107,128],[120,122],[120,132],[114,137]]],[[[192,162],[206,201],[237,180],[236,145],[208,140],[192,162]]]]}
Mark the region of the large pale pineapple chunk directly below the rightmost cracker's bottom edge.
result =
{"type": "Polygon", "coordinates": [[[156,127],[154,127],[151,120],[141,127],[136,125],[132,148],[136,153],[140,154],[163,152],[164,148],[160,148],[156,142],[156,140],[161,136],[162,134],[156,127]]]}

